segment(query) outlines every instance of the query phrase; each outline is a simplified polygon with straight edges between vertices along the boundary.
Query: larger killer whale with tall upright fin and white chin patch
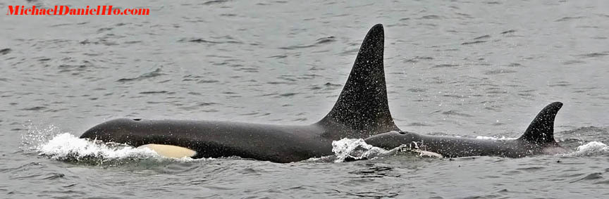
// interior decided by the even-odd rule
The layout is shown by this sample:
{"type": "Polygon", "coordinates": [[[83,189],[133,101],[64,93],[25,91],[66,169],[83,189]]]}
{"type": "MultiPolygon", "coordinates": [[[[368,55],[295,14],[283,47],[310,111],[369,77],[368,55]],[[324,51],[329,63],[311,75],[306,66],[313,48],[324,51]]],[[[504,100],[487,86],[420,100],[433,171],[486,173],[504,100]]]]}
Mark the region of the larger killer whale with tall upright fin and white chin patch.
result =
{"type": "Polygon", "coordinates": [[[271,162],[296,162],[333,155],[332,141],[347,137],[364,139],[400,130],[388,108],[383,45],[383,26],[374,25],[362,41],[336,104],[330,113],[314,124],[283,126],[123,118],[97,124],[80,138],[149,146],[153,150],[173,150],[171,146],[176,146],[184,151],[180,154],[192,158],[239,156],[271,162]]]}

